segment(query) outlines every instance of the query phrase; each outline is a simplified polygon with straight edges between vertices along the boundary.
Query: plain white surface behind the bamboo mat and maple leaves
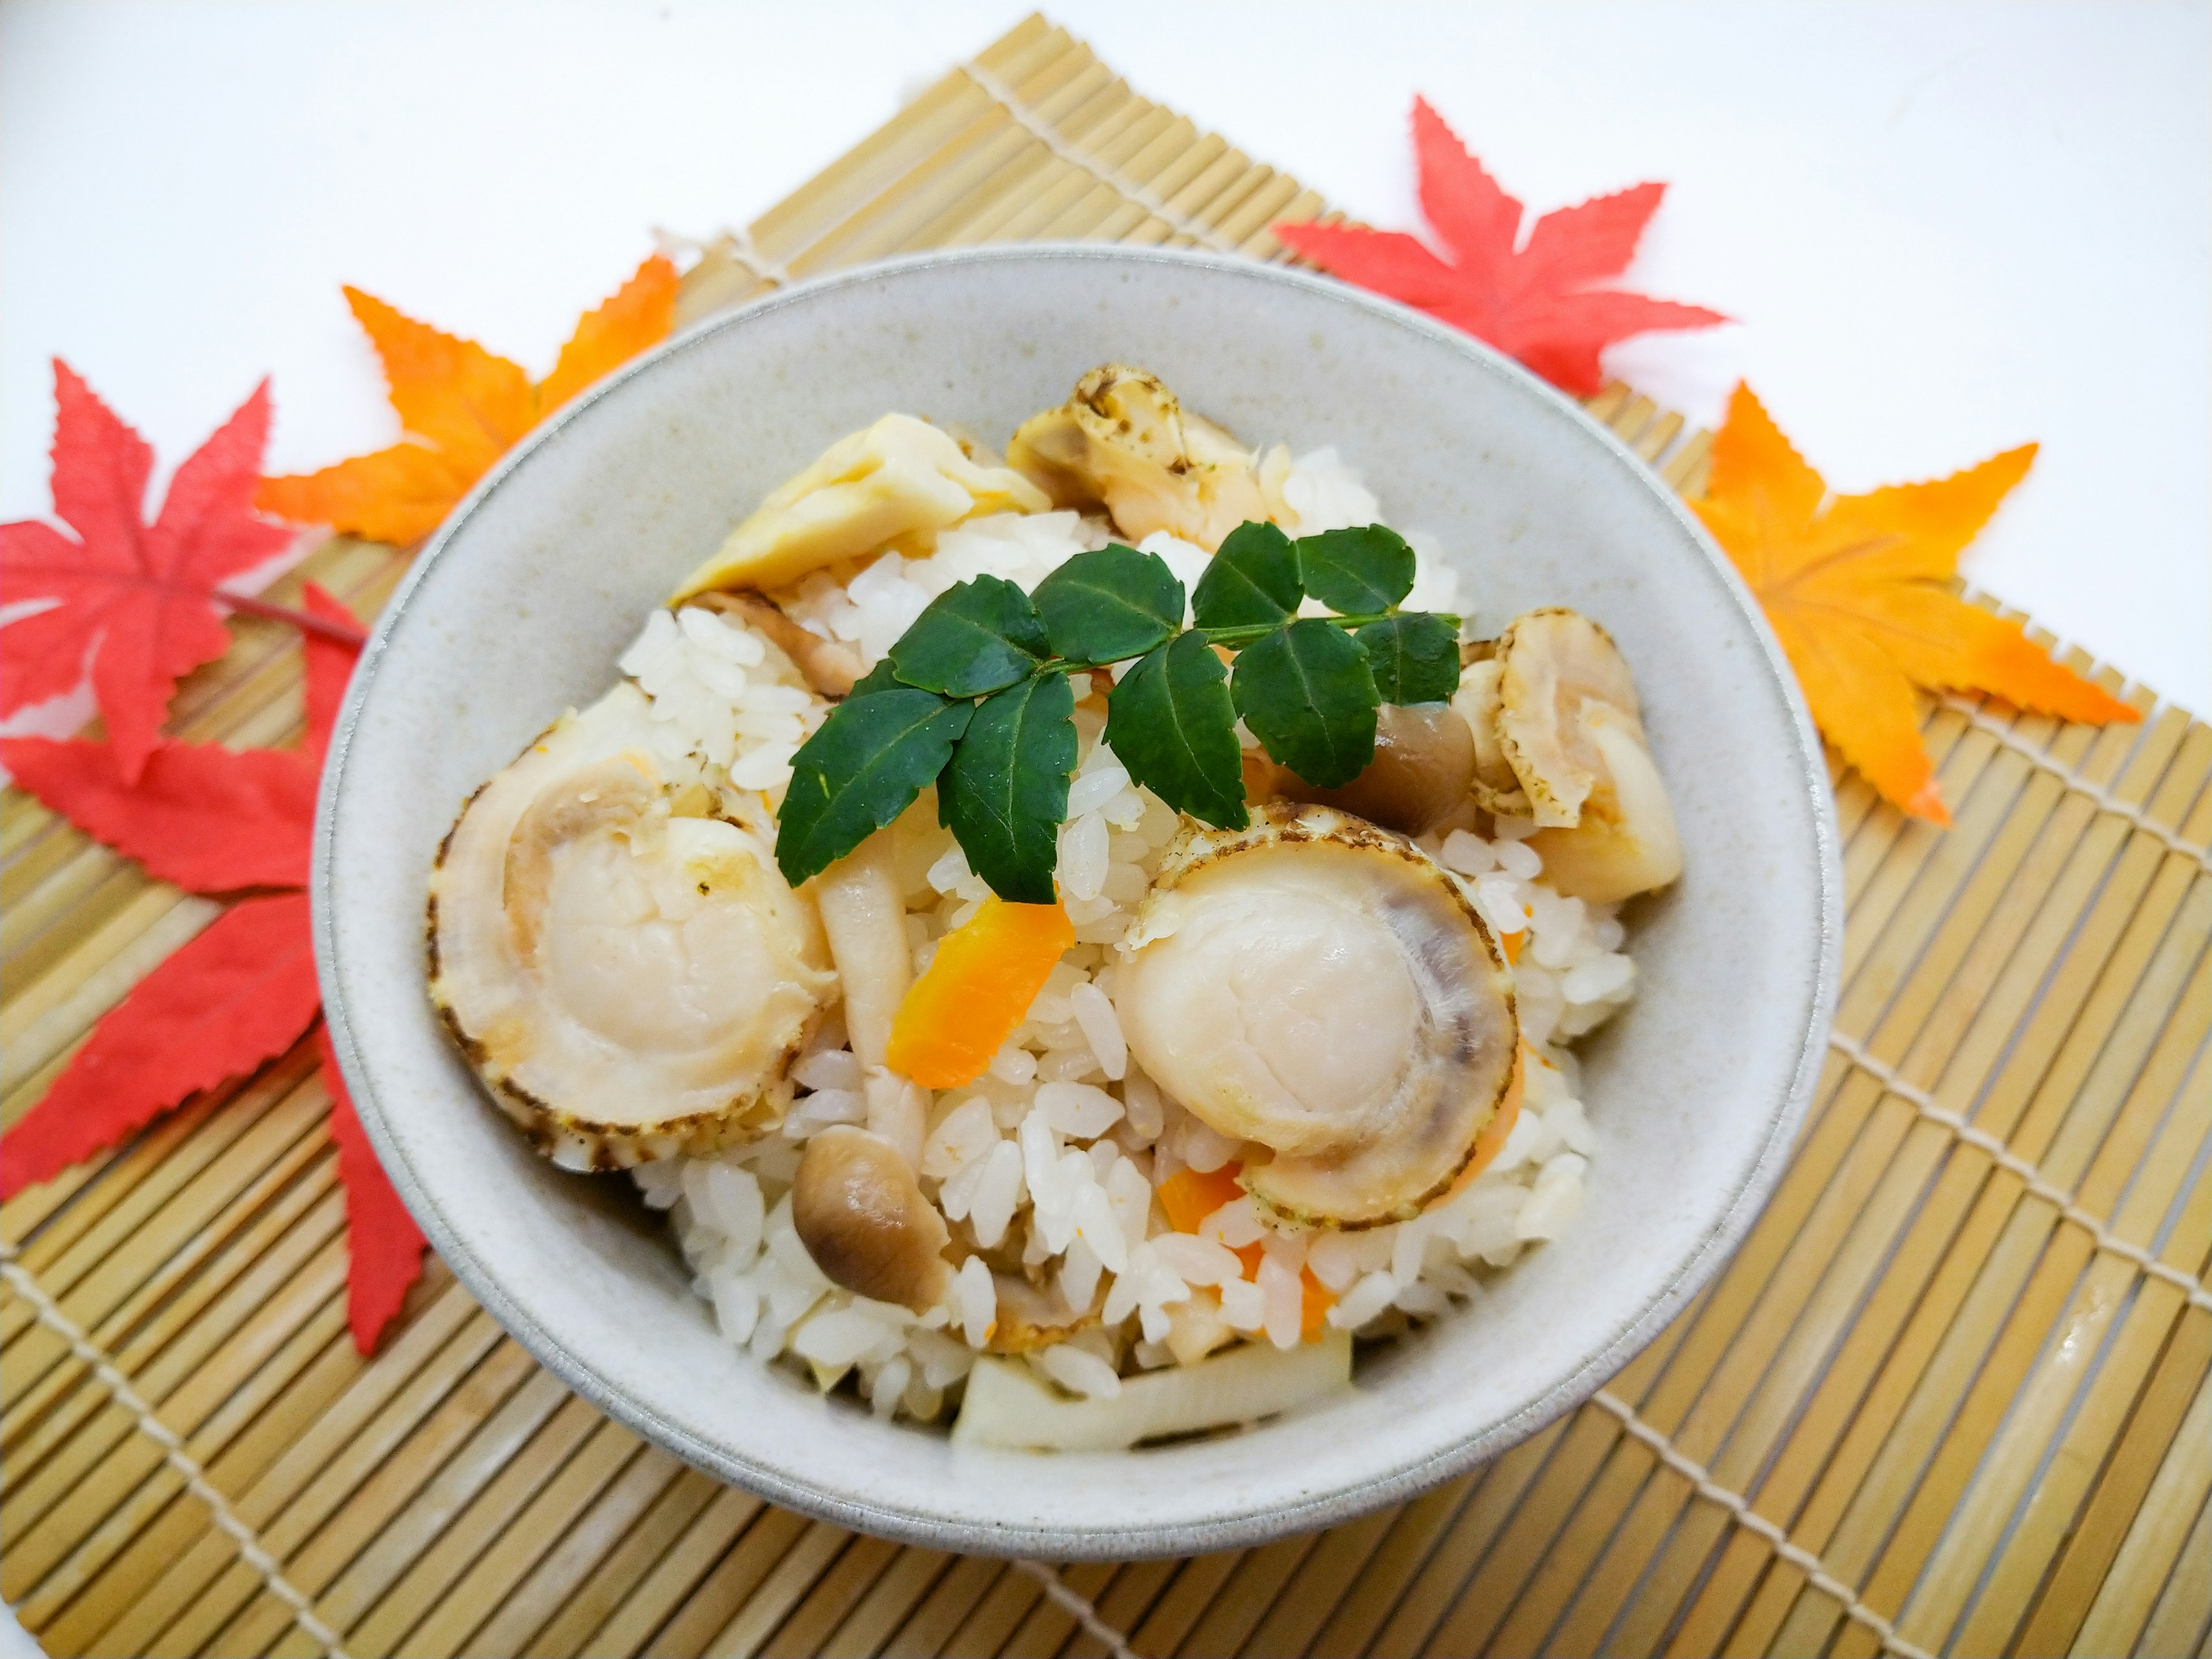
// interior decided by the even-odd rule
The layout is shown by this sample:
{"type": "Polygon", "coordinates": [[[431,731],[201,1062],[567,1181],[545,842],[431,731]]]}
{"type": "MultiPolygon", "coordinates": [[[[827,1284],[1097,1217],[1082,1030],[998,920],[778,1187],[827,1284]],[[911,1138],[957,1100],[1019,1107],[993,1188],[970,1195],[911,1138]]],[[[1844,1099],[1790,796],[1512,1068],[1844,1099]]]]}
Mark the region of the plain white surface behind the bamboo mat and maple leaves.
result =
{"type": "MultiPolygon", "coordinates": [[[[745,223],[1020,0],[0,9],[0,518],[49,358],[175,465],[274,376],[270,471],[389,442],[338,283],[544,372],[650,226],[745,223]]],[[[2212,710],[2203,4],[1057,0],[1130,84],[1411,228],[1422,91],[1535,210],[1672,184],[1632,268],[1741,319],[1610,367],[1747,376],[1836,489],[2044,445],[1966,571],[2212,710]]],[[[4,1646],[0,1632],[0,1646],[4,1646]]]]}

